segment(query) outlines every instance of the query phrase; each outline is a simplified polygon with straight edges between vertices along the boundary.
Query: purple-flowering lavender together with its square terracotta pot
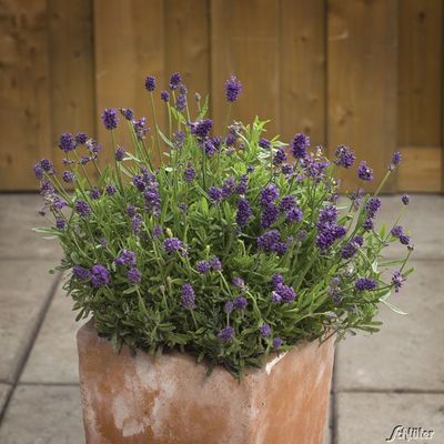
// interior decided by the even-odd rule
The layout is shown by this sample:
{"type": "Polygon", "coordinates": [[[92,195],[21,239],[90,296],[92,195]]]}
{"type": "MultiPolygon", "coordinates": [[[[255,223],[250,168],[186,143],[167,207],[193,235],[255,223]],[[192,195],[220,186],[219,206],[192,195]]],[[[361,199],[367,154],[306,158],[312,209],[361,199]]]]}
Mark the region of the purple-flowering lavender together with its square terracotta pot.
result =
{"type": "MultiPolygon", "coordinates": [[[[377,331],[410,273],[408,235],[374,225],[401,154],[375,193],[339,200],[335,172],[354,168],[353,151],[329,161],[302,133],[286,144],[258,118],[231,121],[235,77],[220,137],[179,73],[160,93],[164,131],[153,77],[145,88],[152,130],[130,109],[102,114],[111,165],[83,133],[61,135],[60,175],[34,165],[54,218],[38,231],[63,248],[77,319],[91,316],[78,334],[87,442],[321,443],[334,341],[377,331]],[[114,142],[118,127],[132,150],[114,142]],[[383,259],[392,242],[405,258],[383,259]]],[[[356,174],[373,180],[364,161],[356,174]]]]}

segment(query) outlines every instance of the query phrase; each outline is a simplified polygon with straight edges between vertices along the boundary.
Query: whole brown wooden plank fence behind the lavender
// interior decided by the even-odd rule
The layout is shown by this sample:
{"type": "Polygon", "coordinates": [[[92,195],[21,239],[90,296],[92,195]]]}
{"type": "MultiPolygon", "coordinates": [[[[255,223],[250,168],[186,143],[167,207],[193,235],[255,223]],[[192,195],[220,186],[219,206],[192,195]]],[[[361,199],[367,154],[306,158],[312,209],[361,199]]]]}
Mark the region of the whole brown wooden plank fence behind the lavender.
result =
{"type": "Polygon", "coordinates": [[[34,189],[30,167],[61,159],[61,132],[107,145],[105,107],[150,119],[144,77],[179,70],[219,122],[235,73],[234,118],[346,143],[376,179],[400,149],[386,191],[442,191],[443,12],[443,0],[0,0],[0,190],[34,189]]]}

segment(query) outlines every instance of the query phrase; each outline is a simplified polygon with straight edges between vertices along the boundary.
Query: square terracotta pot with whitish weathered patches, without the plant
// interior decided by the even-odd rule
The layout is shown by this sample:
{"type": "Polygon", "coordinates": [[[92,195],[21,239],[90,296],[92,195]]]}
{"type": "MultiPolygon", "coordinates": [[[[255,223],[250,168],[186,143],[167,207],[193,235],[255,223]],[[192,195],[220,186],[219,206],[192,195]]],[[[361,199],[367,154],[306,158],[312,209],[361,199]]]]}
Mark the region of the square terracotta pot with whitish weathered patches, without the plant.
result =
{"type": "Polygon", "coordinates": [[[333,339],[274,354],[241,382],[180,353],[114,354],[91,322],[78,349],[88,444],[322,444],[333,339]]]}

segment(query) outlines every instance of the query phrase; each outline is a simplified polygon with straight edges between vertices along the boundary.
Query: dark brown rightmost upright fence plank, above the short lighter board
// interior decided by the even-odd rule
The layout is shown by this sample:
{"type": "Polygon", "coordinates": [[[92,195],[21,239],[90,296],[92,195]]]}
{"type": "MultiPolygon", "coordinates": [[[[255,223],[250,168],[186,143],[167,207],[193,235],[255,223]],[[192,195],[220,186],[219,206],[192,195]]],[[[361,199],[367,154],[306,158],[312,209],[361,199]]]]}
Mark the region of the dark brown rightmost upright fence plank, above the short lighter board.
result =
{"type": "Polygon", "coordinates": [[[400,2],[398,143],[441,144],[443,1],[400,2]]]}

